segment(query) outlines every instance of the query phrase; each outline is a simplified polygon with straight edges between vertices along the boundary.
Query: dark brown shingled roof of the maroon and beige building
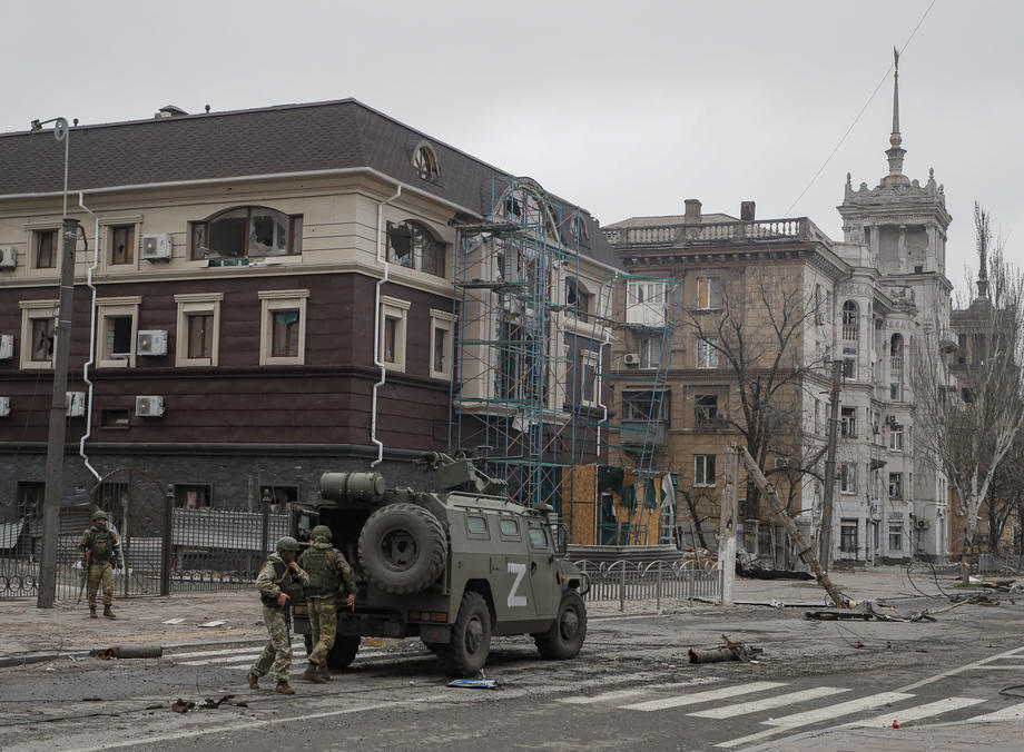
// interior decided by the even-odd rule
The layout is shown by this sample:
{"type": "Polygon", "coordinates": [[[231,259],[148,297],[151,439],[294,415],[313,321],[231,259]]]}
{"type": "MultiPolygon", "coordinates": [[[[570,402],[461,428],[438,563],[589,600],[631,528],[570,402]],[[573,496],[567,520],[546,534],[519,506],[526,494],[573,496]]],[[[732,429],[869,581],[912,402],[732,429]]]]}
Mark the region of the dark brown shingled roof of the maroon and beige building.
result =
{"type": "MultiPolygon", "coordinates": [[[[494,182],[512,177],[354,99],[77,126],[69,166],[71,191],[370,167],[481,216],[500,190],[494,182]],[[441,167],[434,182],[421,179],[412,161],[424,140],[441,167]]],[[[62,187],[63,144],[52,130],[0,135],[0,196],[62,187]]],[[[585,255],[620,266],[587,220],[585,255]]]]}

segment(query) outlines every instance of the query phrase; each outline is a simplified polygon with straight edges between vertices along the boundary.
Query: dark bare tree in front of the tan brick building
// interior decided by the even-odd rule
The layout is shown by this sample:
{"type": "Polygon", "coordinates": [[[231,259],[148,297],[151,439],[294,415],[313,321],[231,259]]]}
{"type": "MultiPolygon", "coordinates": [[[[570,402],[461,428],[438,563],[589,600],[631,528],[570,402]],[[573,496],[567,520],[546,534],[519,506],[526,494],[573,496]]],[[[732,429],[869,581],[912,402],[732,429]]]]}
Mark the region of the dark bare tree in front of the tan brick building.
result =
{"type": "MultiPolygon", "coordinates": [[[[687,309],[685,324],[697,334],[698,349],[713,353],[732,372],[741,415],[730,423],[765,468],[769,454],[791,456],[800,444],[800,385],[819,365],[801,352],[816,301],[805,295],[800,274],[786,266],[748,267],[742,278],[722,284],[720,294],[717,313],[687,309]]],[[[759,507],[759,492],[748,478],[748,515],[760,518],[759,507]]]]}

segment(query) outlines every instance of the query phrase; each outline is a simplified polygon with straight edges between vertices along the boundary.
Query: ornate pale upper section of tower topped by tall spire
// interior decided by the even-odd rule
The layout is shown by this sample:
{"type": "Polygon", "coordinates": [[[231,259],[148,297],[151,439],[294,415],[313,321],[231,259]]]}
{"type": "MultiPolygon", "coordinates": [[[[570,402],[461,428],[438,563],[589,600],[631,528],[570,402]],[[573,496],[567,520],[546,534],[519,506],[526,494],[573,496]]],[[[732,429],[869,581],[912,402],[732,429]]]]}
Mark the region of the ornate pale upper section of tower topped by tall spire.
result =
{"type": "Polygon", "coordinates": [[[935,182],[935,170],[922,186],[903,172],[903,135],[899,132],[899,52],[893,50],[893,132],[889,135],[889,171],[878,185],[861,182],[854,188],[846,176],[843,217],[846,243],[869,249],[872,266],[883,275],[919,275],[946,271],[946,229],[952,217],[946,211],[943,186],[935,182]]]}

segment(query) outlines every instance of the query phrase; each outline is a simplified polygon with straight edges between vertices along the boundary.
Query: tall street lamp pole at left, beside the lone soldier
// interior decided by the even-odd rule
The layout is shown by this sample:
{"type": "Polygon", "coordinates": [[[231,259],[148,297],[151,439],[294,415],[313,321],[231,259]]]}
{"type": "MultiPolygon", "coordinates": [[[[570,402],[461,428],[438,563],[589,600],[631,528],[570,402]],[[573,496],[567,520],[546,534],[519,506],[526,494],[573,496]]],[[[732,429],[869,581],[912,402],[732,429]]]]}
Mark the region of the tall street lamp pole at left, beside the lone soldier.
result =
{"type": "Polygon", "coordinates": [[[71,311],[75,304],[75,246],[77,219],[68,217],[68,158],[70,131],[65,118],[32,120],[32,131],[53,125],[53,137],[65,145],[63,215],[61,219],[60,293],[57,303],[57,332],[53,335],[53,395],[50,399],[50,426],[47,434],[46,496],[42,505],[42,551],[36,605],[52,608],[57,593],[57,534],[60,496],[63,484],[65,438],[68,413],[68,347],[71,340],[71,311]]]}

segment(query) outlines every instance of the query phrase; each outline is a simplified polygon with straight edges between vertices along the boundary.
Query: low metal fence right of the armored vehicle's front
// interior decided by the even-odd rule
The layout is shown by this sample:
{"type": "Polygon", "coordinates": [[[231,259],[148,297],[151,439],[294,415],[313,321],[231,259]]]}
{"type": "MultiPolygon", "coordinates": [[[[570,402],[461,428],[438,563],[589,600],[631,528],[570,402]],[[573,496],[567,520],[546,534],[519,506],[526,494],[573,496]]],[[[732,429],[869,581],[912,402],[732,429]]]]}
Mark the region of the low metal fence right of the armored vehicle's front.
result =
{"type": "Polygon", "coordinates": [[[618,601],[626,610],[627,601],[654,601],[661,607],[662,598],[720,598],[721,566],[718,562],[705,565],[695,560],[656,562],[588,562],[575,565],[590,581],[587,601],[618,601]]]}

